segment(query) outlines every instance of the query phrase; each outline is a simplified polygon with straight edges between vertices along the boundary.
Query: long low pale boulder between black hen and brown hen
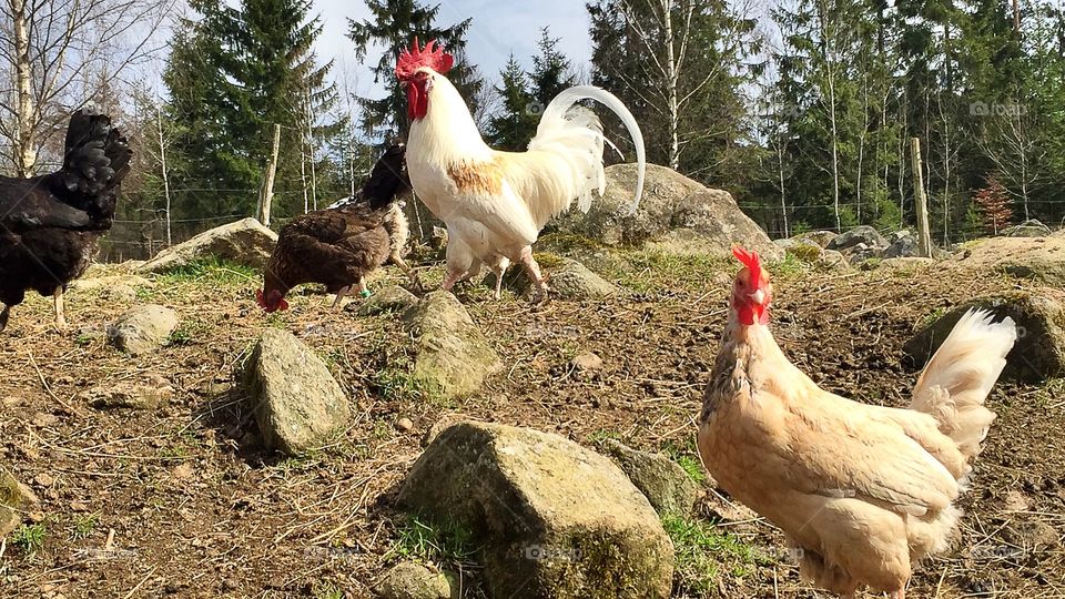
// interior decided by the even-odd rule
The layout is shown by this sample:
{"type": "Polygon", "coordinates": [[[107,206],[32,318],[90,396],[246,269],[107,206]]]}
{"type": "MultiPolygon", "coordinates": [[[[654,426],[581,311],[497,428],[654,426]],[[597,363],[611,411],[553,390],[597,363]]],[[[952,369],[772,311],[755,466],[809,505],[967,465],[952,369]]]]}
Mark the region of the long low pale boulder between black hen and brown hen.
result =
{"type": "Polygon", "coordinates": [[[139,273],[165,273],[200,260],[217,258],[250,268],[266,266],[277,244],[277,234],[255,219],[244,219],[205,231],[195,237],[163,250],[138,266],[139,273]]]}

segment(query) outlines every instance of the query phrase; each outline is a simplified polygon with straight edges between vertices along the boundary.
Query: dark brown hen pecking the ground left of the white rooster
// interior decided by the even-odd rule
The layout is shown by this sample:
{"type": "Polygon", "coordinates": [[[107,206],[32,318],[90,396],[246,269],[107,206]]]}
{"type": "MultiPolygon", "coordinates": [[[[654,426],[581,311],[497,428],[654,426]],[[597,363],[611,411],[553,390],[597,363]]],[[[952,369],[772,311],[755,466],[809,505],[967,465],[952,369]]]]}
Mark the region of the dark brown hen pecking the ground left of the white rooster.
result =
{"type": "Polygon", "coordinates": [[[285,295],[303,283],[321,283],[336,304],[355,287],[366,296],[365,276],[393,262],[408,274],[402,252],[409,231],[398,194],[410,187],[404,146],[393,145],[374,165],[355,197],[293,219],[281,230],[266,264],[258,305],[285,309],[285,295]]]}

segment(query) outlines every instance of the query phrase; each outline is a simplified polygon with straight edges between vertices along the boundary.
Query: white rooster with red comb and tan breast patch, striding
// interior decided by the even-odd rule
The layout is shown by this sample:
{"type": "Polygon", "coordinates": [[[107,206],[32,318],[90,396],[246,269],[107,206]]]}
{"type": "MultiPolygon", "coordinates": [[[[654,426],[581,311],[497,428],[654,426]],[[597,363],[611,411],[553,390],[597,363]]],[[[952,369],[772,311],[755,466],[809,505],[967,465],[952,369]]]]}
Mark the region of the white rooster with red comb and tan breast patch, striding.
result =
{"type": "Polygon", "coordinates": [[[454,59],[417,38],[396,62],[407,90],[407,172],[418,197],[447,224],[447,277],[444,288],[487,265],[498,281],[510,262],[521,264],[542,295],[547,281],[532,257],[540,230],[574,200],[587,212],[591,193],[606,187],[602,124],[586,99],[620,116],[636,144],[638,179],[635,212],[643,193],[643,135],[625,104],[591,85],[564,90],[548,104],[527,152],[499,152],[481,140],[463,97],[444,74],[454,59]]]}

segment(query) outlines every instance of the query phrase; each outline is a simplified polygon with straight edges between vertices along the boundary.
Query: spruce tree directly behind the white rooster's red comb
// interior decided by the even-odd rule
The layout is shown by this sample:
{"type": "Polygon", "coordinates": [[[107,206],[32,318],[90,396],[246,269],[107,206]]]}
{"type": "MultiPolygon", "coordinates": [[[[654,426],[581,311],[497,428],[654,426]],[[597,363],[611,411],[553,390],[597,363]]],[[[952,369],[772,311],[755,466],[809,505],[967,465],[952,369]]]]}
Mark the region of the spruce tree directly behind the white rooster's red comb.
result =
{"type": "Polygon", "coordinates": [[[428,7],[418,0],[366,0],[371,17],[364,21],[348,19],[348,38],[355,43],[355,59],[364,60],[372,47],[385,48],[377,65],[373,68],[374,82],[389,90],[385,98],[361,98],[363,128],[375,139],[388,142],[389,138],[406,139],[407,99],[396,81],[396,58],[410,47],[414,38],[427,43],[437,40],[455,57],[455,67],[447,79],[466,100],[470,113],[477,111],[477,97],[484,84],[477,68],[466,58],[466,31],[473,19],[450,27],[436,23],[440,6],[428,7]]]}

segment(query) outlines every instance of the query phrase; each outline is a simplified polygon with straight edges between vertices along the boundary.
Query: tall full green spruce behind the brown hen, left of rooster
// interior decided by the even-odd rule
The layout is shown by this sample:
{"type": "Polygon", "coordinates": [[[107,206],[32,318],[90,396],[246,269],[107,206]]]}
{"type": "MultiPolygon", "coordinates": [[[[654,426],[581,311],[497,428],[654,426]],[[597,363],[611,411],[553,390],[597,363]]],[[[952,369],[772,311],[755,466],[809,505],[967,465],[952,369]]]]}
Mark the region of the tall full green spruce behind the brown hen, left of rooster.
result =
{"type": "Polygon", "coordinates": [[[326,81],[331,64],[317,65],[312,50],[322,26],[310,0],[243,0],[239,8],[197,0],[192,8],[202,19],[179,23],[163,81],[170,118],[184,129],[175,151],[187,156],[187,179],[175,186],[205,191],[179,195],[175,212],[251,214],[275,123],[283,132],[275,189],[286,200],[276,212],[302,212],[301,149],[316,160],[312,140],[342,124],[326,118],[336,90],[326,81]]]}

